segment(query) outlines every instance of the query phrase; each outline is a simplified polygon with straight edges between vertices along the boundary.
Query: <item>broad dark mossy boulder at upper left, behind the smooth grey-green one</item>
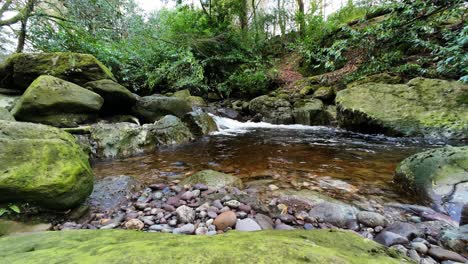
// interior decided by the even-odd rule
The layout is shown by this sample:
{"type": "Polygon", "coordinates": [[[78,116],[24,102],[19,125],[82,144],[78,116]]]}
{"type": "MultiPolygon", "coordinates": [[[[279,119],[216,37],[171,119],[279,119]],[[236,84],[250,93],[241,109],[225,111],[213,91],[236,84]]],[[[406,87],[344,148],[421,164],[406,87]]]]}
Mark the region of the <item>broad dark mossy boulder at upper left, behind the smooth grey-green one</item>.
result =
{"type": "Polygon", "coordinates": [[[40,75],[51,75],[78,85],[114,80],[111,71],[93,55],[71,52],[17,53],[0,66],[0,87],[26,90],[40,75]]]}

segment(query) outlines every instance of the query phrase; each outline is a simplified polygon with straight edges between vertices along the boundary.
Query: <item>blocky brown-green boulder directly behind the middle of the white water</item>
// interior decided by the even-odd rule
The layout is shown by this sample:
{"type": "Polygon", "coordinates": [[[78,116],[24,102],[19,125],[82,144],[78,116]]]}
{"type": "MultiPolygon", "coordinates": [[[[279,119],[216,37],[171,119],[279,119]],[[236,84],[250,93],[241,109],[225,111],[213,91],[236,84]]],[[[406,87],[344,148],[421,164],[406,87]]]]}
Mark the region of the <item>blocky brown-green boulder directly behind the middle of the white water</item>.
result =
{"type": "Polygon", "coordinates": [[[294,123],[291,103],[280,97],[262,95],[254,98],[249,103],[249,110],[254,114],[260,114],[264,122],[273,124],[294,123]]]}

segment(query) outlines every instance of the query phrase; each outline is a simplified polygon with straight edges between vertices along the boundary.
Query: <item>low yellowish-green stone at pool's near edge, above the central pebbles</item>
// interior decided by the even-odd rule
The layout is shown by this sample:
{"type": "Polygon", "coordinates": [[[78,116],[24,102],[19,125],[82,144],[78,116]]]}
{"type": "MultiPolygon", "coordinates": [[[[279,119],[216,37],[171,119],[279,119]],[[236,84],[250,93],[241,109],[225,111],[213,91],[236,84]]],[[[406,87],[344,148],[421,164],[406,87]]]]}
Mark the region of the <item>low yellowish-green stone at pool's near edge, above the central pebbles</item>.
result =
{"type": "Polygon", "coordinates": [[[242,181],[239,178],[214,170],[199,171],[180,182],[181,185],[195,185],[197,183],[203,183],[216,189],[224,187],[242,188],[242,181]]]}

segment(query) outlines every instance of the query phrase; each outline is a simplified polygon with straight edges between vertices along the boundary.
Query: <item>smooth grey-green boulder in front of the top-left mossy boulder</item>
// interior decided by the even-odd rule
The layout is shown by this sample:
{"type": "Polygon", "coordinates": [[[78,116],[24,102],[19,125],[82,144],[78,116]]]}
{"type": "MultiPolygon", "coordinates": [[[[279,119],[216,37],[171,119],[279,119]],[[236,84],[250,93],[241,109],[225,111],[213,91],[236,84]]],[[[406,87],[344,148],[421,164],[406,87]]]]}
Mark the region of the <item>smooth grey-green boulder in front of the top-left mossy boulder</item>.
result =
{"type": "Polygon", "coordinates": [[[76,84],[42,75],[24,92],[12,114],[19,121],[74,127],[93,119],[103,102],[76,84]]]}

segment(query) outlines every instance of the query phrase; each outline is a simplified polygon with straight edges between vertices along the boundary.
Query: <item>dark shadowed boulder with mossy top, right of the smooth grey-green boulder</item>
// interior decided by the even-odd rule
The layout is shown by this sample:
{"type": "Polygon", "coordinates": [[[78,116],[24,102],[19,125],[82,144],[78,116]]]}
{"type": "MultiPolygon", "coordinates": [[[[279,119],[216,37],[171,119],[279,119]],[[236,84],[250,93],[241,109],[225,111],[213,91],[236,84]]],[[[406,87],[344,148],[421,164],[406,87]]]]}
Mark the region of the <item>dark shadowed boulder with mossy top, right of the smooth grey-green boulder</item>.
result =
{"type": "Polygon", "coordinates": [[[128,113],[135,105],[137,98],[127,88],[108,79],[88,82],[84,88],[104,98],[101,112],[108,114],[128,113]]]}

